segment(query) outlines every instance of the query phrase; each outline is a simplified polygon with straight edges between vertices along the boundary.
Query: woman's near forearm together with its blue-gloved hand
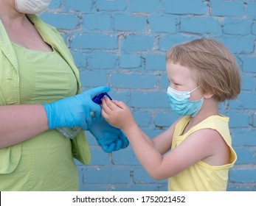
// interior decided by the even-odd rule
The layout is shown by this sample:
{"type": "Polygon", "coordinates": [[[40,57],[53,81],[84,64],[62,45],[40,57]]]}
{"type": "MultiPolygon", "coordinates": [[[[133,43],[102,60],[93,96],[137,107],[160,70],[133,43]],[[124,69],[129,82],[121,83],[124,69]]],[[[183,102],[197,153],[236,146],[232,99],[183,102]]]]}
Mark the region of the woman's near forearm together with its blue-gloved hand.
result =
{"type": "Polygon", "coordinates": [[[90,112],[100,116],[100,106],[91,99],[108,87],[86,90],[50,104],[21,104],[0,106],[0,148],[32,138],[47,129],[91,125],[90,112]]]}

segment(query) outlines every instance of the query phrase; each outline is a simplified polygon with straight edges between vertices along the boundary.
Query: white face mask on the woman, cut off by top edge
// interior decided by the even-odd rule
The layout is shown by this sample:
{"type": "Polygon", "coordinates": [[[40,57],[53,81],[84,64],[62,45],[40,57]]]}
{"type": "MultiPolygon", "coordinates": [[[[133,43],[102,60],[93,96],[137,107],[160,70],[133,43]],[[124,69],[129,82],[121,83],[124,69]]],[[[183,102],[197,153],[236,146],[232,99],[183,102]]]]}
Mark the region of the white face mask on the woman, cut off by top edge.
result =
{"type": "Polygon", "coordinates": [[[51,3],[51,0],[15,0],[16,10],[20,13],[42,13],[51,3]]]}

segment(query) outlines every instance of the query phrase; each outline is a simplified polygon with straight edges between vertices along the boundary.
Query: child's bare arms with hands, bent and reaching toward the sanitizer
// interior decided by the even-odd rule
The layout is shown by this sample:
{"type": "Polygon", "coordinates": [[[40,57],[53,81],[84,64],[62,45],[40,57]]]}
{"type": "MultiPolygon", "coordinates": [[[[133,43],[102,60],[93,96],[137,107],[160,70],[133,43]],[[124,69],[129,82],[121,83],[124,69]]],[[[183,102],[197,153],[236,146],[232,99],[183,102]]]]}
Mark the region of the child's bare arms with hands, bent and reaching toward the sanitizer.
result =
{"type": "Polygon", "coordinates": [[[168,137],[168,135],[173,135],[173,126],[154,138],[153,141],[149,141],[123,102],[111,102],[109,99],[103,99],[102,109],[102,115],[106,121],[114,127],[122,129],[139,162],[148,174],[156,180],[172,177],[199,160],[210,157],[212,148],[216,147],[215,137],[212,137],[212,129],[203,129],[194,132],[176,149],[163,156],[162,153],[165,149],[159,149],[159,146],[165,145],[166,148],[170,149],[170,141],[167,139],[172,139],[172,136],[168,137]],[[159,143],[161,139],[162,142],[159,143]]]}

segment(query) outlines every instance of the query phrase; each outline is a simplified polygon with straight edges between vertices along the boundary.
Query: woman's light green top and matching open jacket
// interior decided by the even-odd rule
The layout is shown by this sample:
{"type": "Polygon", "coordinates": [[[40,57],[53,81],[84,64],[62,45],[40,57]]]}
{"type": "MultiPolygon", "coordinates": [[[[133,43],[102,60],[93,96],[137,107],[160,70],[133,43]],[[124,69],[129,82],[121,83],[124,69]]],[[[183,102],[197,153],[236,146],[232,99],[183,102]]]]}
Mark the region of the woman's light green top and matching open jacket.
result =
{"type": "MultiPolygon", "coordinates": [[[[28,17],[52,46],[52,52],[32,51],[10,43],[0,21],[1,105],[49,103],[80,90],[77,68],[57,30],[35,15],[28,17]]],[[[52,129],[0,149],[0,191],[77,191],[74,157],[89,163],[83,132],[71,141],[52,129]]]]}

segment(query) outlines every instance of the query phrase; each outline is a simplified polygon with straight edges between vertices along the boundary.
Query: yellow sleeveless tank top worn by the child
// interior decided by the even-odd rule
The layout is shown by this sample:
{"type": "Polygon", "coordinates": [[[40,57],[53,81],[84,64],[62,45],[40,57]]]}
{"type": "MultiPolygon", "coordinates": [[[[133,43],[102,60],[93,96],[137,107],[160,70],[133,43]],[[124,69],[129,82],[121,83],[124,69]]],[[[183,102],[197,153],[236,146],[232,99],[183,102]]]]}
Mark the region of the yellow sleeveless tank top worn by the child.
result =
{"type": "Polygon", "coordinates": [[[226,116],[210,116],[181,135],[189,121],[190,116],[184,116],[176,124],[171,149],[176,148],[190,134],[199,129],[215,129],[229,146],[229,163],[223,166],[210,166],[203,161],[199,161],[179,174],[170,177],[168,180],[168,191],[226,191],[229,168],[234,166],[237,159],[235,151],[232,149],[228,125],[229,118],[226,116]]]}

